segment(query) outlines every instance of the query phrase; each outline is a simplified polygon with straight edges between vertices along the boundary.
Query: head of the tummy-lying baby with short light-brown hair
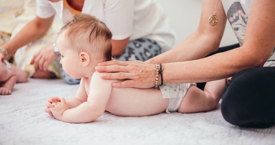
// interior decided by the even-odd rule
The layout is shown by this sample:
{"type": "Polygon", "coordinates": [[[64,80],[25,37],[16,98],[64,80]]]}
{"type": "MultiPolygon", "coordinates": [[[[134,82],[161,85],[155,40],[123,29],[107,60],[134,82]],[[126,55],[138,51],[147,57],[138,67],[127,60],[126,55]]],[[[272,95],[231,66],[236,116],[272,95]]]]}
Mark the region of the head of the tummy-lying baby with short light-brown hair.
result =
{"type": "Polygon", "coordinates": [[[73,78],[72,72],[112,58],[112,33],[107,26],[89,14],[75,15],[59,31],[56,41],[61,53],[63,69],[73,78]],[[78,68],[79,67],[79,68],[78,68]]]}

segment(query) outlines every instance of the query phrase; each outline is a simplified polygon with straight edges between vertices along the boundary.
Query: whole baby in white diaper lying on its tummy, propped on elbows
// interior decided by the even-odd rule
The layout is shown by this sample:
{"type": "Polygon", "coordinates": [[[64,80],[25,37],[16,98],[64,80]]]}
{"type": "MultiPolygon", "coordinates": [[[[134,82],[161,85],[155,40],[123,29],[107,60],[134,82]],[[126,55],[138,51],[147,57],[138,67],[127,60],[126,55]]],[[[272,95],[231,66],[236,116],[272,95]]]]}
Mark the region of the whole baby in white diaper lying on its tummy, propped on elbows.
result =
{"type": "MultiPolygon", "coordinates": [[[[52,97],[46,112],[69,123],[91,122],[108,111],[117,116],[150,116],[162,112],[195,113],[214,109],[225,80],[208,82],[202,91],[195,84],[164,84],[160,89],[114,88],[95,71],[97,63],[112,58],[112,33],[94,16],[80,14],[60,30],[56,44],[60,63],[72,78],[81,78],[75,97],[52,97]]],[[[155,70],[152,70],[155,71],[155,70]]]]}

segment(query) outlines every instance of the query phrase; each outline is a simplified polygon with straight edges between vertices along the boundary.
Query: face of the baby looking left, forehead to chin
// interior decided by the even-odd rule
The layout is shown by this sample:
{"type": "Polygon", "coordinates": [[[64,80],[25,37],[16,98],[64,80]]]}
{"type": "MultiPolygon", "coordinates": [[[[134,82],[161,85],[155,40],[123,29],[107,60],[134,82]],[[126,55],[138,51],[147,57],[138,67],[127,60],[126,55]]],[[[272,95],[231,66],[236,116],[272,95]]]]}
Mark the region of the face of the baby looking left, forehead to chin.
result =
{"type": "Polygon", "coordinates": [[[81,65],[81,58],[78,51],[72,48],[67,38],[65,37],[65,32],[62,32],[56,40],[56,45],[61,54],[60,63],[62,64],[63,70],[74,79],[82,78],[83,70],[81,65]]]}

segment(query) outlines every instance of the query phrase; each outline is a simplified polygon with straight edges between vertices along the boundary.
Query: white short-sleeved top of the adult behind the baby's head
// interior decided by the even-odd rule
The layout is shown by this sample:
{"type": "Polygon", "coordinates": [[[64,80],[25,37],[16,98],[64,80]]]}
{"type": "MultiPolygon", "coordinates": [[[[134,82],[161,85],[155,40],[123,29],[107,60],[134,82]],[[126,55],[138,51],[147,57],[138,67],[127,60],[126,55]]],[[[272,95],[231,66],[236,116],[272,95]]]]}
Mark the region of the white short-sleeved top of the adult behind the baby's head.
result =
{"type": "MultiPolygon", "coordinates": [[[[62,19],[63,1],[36,0],[36,14],[49,18],[58,14],[62,19]]],[[[162,52],[175,43],[175,32],[169,18],[156,0],[85,0],[82,13],[95,15],[113,33],[113,40],[147,38],[156,41],[162,52]]]]}

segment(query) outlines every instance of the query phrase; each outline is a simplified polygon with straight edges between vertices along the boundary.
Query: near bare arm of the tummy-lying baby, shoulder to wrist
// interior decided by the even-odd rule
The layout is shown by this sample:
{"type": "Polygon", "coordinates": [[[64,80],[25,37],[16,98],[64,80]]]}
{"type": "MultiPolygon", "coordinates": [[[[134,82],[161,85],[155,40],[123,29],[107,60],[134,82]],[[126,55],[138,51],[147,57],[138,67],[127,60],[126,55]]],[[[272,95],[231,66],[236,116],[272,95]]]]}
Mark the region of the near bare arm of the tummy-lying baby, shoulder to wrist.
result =
{"type": "Polygon", "coordinates": [[[113,81],[111,80],[103,80],[100,74],[95,72],[91,79],[87,102],[83,102],[75,108],[65,110],[61,116],[56,116],[53,108],[53,115],[57,119],[69,123],[86,123],[97,119],[105,111],[111,95],[112,83],[113,81]]]}

